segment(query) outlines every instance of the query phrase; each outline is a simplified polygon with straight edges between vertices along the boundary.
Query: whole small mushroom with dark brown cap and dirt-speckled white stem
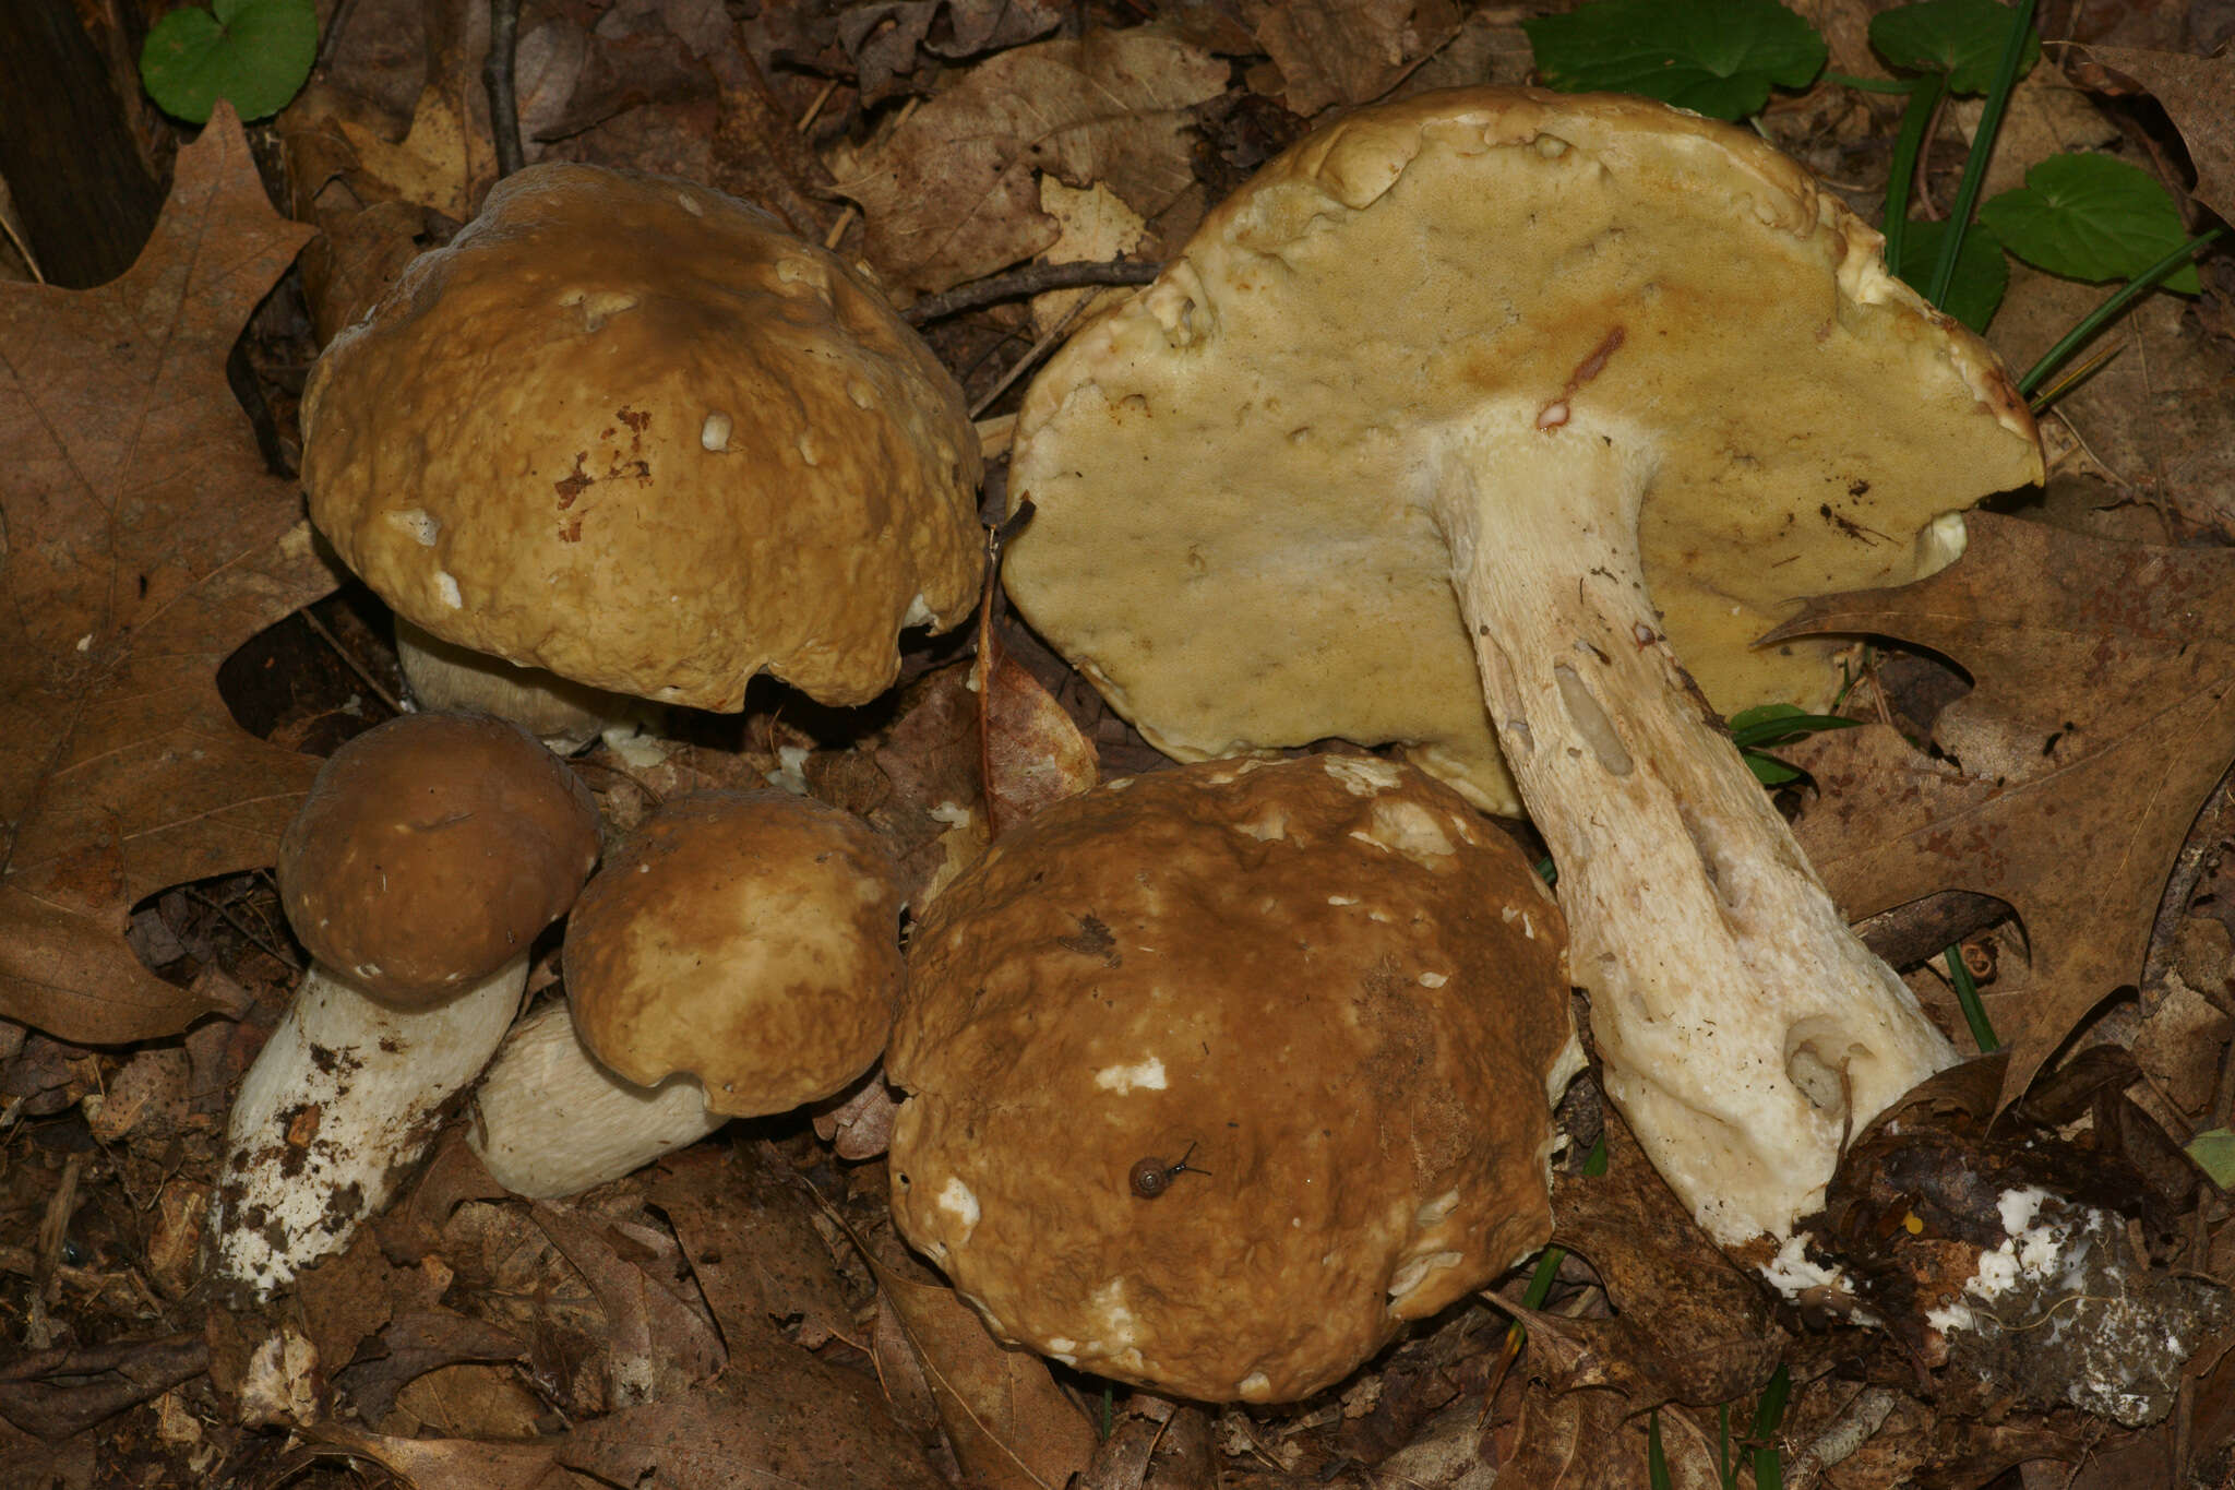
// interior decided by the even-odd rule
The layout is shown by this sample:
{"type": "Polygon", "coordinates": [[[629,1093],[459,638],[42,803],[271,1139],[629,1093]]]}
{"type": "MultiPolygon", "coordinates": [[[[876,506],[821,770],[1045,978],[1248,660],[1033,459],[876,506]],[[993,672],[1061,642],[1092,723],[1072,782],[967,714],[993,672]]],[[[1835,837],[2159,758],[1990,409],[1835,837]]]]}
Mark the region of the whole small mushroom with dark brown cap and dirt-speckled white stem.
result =
{"type": "Polygon", "coordinates": [[[333,753],[279,842],[313,963],[232,1104],[212,1278],[268,1298],[387,1206],[595,862],[590,793],[516,724],[402,715],[333,753]]]}

